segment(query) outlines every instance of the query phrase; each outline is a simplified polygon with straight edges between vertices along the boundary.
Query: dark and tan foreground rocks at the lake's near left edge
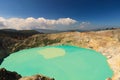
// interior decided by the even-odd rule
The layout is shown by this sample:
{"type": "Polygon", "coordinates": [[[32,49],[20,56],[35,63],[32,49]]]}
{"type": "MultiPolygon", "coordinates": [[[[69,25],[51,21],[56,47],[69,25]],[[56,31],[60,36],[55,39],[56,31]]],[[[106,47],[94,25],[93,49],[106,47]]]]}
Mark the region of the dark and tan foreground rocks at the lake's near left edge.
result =
{"type": "Polygon", "coordinates": [[[28,77],[22,77],[17,72],[11,72],[5,68],[0,69],[0,80],[55,80],[54,78],[49,78],[43,75],[34,75],[28,77]]]}

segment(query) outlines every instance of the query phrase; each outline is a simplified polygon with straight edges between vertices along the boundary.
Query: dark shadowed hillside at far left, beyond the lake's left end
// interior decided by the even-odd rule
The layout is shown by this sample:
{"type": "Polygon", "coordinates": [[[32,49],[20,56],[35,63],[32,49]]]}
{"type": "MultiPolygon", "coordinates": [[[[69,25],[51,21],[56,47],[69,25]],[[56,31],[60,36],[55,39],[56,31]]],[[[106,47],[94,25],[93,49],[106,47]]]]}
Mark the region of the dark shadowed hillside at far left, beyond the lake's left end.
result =
{"type": "Polygon", "coordinates": [[[40,33],[34,30],[0,30],[0,63],[4,57],[8,56],[9,53],[11,53],[10,48],[13,48],[14,44],[35,34],[40,33]]]}

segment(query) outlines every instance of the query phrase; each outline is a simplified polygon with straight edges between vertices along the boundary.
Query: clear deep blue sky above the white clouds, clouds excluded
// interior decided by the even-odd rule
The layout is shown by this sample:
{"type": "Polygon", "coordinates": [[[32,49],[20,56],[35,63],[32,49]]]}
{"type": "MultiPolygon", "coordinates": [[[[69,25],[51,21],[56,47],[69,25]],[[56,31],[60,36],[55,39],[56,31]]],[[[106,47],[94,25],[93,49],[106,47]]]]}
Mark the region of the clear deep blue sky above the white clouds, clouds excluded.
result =
{"type": "Polygon", "coordinates": [[[71,18],[79,22],[120,26],[120,0],[0,0],[4,18],[71,18]]]}

